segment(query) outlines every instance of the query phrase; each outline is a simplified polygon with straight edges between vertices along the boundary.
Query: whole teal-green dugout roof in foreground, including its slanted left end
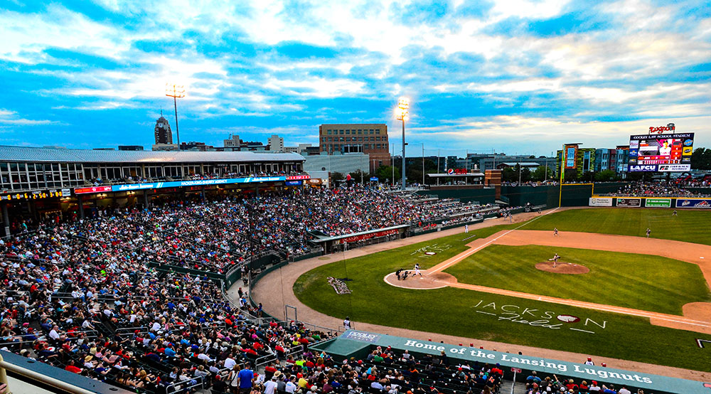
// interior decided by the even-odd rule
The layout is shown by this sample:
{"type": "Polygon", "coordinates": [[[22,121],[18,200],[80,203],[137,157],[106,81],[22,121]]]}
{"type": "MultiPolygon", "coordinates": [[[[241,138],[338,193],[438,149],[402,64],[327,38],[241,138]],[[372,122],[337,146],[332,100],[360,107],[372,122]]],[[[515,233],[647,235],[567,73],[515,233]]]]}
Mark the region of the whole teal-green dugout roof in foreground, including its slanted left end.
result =
{"type": "Polygon", "coordinates": [[[468,362],[491,366],[499,363],[504,371],[504,378],[507,380],[513,380],[514,378],[512,368],[519,368],[520,372],[515,375],[515,380],[517,381],[525,381],[531,371],[537,371],[540,378],[555,373],[558,378],[574,378],[578,382],[579,380],[597,380],[601,386],[602,383],[607,385],[612,383],[617,388],[626,385],[633,393],[636,393],[638,389],[645,390],[646,393],[657,394],[709,393],[709,388],[705,386],[708,383],[695,380],[670,378],[668,376],[624,371],[615,368],[587,366],[582,361],[580,363],[569,363],[550,358],[520,356],[513,353],[482,350],[473,346],[438,344],[437,342],[418,341],[400,336],[374,334],[365,331],[348,330],[336,339],[316,344],[311,348],[326,351],[331,356],[341,360],[351,357],[365,358],[377,346],[382,346],[383,348],[392,346],[393,349],[397,349],[400,352],[407,350],[416,357],[424,354],[438,357],[440,352],[444,351],[447,353],[450,363],[453,364],[468,362]]]}

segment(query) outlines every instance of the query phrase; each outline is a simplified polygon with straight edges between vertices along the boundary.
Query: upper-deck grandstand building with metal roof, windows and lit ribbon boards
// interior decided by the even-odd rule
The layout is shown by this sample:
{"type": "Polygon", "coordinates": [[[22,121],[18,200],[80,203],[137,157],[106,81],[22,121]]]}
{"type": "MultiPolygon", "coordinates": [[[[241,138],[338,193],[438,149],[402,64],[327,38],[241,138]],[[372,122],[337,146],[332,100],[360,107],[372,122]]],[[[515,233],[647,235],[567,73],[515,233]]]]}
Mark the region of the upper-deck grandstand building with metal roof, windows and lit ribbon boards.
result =
{"type": "Polygon", "coordinates": [[[304,156],[247,151],[113,151],[0,146],[0,206],[9,216],[148,206],[169,193],[259,193],[301,186],[304,156]]]}

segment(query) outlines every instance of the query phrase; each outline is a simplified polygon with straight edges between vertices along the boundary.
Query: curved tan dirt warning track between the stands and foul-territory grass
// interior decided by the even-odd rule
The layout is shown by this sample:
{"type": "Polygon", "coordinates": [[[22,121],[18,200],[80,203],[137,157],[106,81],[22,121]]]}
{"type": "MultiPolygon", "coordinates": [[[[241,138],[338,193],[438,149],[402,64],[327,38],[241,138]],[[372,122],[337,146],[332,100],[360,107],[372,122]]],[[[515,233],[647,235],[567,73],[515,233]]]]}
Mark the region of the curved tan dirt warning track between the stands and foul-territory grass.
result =
{"type": "MultiPolygon", "coordinates": [[[[535,218],[536,216],[538,215],[535,213],[520,213],[514,215],[513,221],[521,222],[523,220],[535,218]]],[[[471,225],[469,226],[469,230],[476,230],[477,228],[484,228],[490,227],[492,225],[507,223],[510,223],[509,220],[505,221],[503,218],[491,219],[486,220],[484,223],[471,225]]],[[[360,247],[358,249],[348,250],[345,252],[345,254],[338,253],[336,255],[313,257],[308,260],[289,264],[279,270],[269,272],[268,275],[262,277],[262,279],[257,282],[255,287],[252,289],[252,298],[255,300],[255,302],[261,302],[263,304],[265,312],[272,316],[276,316],[277,318],[284,317],[284,304],[288,304],[297,308],[297,312],[299,314],[299,321],[306,321],[311,324],[318,324],[320,326],[336,329],[338,327],[343,326],[343,318],[328,316],[326,314],[322,314],[321,312],[315,311],[314,309],[307,307],[306,304],[300,302],[299,299],[296,298],[296,295],[294,295],[294,282],[296,282],[296,279],[298,279],[301,274],[313,270],[314,268],[319,267],[321,265],[341,261],[344,257],[353,258],[363,255],[370,255],[375,252],[394,249],[395,247],[411,245],[413,243],[442,238],[446,235],[453,235],[456,233],[463,232],[463,227],[453,228],[437,233],[417,235],[412,238],[405,238],[403,240],[396,240],[389,243],[368,245],[365,247],[360,247]]],[[[237,294],[237,287],[237,284],[233,284],[232,287],[230,287],[229,289],[230,294],[237,294]]],[[[546,348],[536,348],[534,346],[504,344],[502,342],[484,341],[481,339],[466,338],[463,336],[451,336],[425,331],[400,329],[397,327],[361,323],[358,321],[353,322],[353,326],[355,327],[355,329],[363,331],[402,336],[405,338],[412,338],[420,341],[427,341],[428,339],[432,339],[432,341],[434,342],[444,341],[447,344],[454,345],[471,343],[474,344],[474,346],[476,347],[483,346],[486,349],[503,351],[513,354],[516,354],[520,351],[523,354],[535,355],[542,358],[552,358],[555,360],[569,361],[571,363],[582,363],[582,361],[584,361],[588,356],[591,356],[589,354],[584,353],[557,351],[546,348]]],[[[640,363],[638,361],[621,360],[619,358],[609,358],[602,356],[595,356],[595,361],[596,363],[606,363],[610,368],[626,369],[629,371],[639,371],[643,373],[654,373],[656,375],[673,376],[675,378],[711,381],[711,373],[706,372],[690,371],[682,368],[658,366],[655,364],[640,363]]]]}

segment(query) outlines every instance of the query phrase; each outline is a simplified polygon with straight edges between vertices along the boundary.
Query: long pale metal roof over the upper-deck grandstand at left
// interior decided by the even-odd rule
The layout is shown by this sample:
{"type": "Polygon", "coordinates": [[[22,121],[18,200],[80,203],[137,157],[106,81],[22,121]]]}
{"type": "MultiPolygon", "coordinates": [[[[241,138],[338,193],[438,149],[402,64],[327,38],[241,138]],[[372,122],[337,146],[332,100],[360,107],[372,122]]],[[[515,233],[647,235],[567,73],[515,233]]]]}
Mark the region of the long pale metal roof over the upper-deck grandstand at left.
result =
{"type": "Polygon", "coordinates": [[[105,151],[90,149],[62,149],[11,147],[0,145],[0,161],[50,161],[71,163],[165,163],[216,161],[304,161],[296,153],[255,153],[251,151],[105,151]]]}

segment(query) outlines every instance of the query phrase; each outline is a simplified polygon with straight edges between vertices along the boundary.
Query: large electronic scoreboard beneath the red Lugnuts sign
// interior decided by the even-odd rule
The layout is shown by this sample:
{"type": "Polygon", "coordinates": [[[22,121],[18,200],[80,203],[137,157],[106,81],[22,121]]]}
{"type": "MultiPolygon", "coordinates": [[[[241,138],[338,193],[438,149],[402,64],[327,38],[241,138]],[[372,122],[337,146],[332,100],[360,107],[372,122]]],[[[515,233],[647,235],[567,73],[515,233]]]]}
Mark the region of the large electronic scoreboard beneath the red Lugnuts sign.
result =
{"type": "Polygon", "coordinates": [[[690,171],[694,133],[632,135],[629,137],[629,171],[690,171]]]}

